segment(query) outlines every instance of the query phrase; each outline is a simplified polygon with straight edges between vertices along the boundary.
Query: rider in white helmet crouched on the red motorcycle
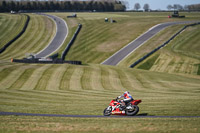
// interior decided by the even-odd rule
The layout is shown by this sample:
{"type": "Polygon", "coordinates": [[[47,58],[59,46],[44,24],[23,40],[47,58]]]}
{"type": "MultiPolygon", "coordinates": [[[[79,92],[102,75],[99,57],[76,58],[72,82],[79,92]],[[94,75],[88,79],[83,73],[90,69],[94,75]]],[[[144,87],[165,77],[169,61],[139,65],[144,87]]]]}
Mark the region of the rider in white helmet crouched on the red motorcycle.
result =
{"type": "Polygon", "coordinates": [[[117,99],[120,99],[120,98],[124,98],[123,100],[121,100],[121,107],[120,107],[121,110],[126,108],[129,102],[133,101],[133,97],[128,91],[125,91],[121,96],[117,97],[117,99]]]}

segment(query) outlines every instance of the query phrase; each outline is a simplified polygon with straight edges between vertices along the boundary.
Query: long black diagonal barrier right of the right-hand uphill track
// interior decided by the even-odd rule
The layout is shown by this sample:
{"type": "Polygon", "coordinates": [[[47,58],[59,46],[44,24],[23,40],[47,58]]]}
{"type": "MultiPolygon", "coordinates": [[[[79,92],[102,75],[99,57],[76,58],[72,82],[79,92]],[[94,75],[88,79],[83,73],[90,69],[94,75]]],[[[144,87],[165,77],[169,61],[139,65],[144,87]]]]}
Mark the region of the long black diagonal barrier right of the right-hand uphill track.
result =
{"type": "Polygon", "coordinates": [[[194,24],[189,24],[184,26],[181,30],[179,30],[176,34],[174,34],[169,40],[167,40],[165,43],[163,43],[162,45],[158,46],[157,48],[155,48],[154,50],[152,50],[151,52],[149,52],[148,54],[146,54],[145,56],[141,57],[140,59],[138,59],[136,62],[134,62],[132,65],[130,65],[130,68],[134,68],[136,65],[138,65],[140,62],[142,62],[143,60],[145,60],[147,57],[149,57],[150,55],[152,55],[153,53],[155,53],[156,51],[158,51],[159,49],[161,49],[162,47],[165,47],[171,40],[173,40],[177,35],[179,35],[183,30],[185,30],[186,28],[188,28],[189,26],[195,26],[200,24],[200,22],[194,23],[194,24]]]}

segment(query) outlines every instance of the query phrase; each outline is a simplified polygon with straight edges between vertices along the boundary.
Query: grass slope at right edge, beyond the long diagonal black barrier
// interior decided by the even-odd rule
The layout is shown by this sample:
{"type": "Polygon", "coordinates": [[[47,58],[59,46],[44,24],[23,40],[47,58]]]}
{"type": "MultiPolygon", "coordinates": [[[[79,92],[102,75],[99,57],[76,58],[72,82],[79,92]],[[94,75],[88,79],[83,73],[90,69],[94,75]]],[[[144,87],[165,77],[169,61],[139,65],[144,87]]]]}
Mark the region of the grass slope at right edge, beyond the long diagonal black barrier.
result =
{"type": "MultiPolygon", "coordinates": [[[[199,75],[199,27],[200,26],[193,26],[184,30],[179,36],[171,41],[167,47],[161,49],[155,55],[152,55],[143,63],[139,64],[138,68],[158,72],[199,75]],[[155,56],[156,59],[152,60],[155,56]],[[147,67],[147,62],[151,64],[151,67],[147,67]]],[[[150,40],[150,43],[152,41],[156,42],[154,40],[157,40],[158,38],[162,38],[162,35],[157,35],[150,40]]],[[[131,57],[126,60],[130,58],[131,57]]]]}

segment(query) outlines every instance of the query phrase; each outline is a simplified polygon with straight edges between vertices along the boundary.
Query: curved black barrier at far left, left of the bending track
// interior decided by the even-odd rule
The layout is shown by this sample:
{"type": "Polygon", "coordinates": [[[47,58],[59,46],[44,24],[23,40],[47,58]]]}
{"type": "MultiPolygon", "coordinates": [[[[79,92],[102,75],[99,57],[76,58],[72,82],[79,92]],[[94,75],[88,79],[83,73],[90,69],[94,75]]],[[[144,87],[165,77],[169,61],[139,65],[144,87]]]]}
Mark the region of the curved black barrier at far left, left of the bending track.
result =
{"type": "Polygon", "coordinates": [[[0,49],[0,54],[3,53],[14,41],[16,41],[25,31],[26,31],[26,28],[28,26],[28,23],[29,23],[29,20],[30,20],[30,17],[26,14],[24,14],[25,16],[27,16],[27,19],[26,19],[26,23],[22,29],[22,31],[15,37],[13,38],[12,40],[10,40],[8,43],[6,43],[3,48],[0,49]]]}

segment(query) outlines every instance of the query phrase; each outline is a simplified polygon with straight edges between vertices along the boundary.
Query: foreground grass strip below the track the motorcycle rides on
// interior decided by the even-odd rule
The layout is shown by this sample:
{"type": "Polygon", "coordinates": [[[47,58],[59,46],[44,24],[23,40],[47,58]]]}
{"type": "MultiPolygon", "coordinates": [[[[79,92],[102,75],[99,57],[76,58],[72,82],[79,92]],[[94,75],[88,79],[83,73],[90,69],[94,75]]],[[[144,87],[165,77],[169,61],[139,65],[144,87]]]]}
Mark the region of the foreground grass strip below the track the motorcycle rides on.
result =
{"type": "Polygon", "coordinates": [[[200,118],[55,118],[0,116],[1,132],[193,132],[200,131],[200,118]]]}

